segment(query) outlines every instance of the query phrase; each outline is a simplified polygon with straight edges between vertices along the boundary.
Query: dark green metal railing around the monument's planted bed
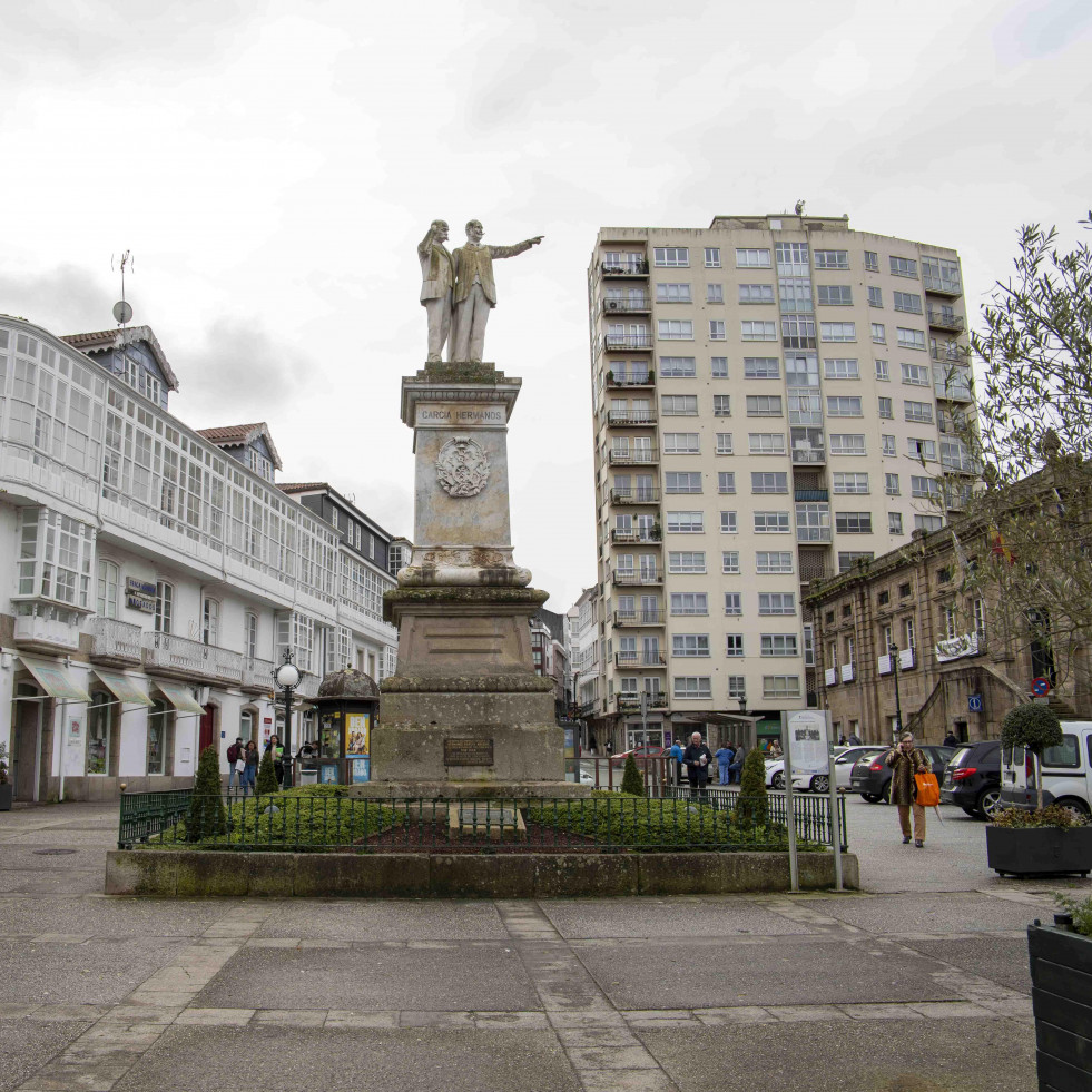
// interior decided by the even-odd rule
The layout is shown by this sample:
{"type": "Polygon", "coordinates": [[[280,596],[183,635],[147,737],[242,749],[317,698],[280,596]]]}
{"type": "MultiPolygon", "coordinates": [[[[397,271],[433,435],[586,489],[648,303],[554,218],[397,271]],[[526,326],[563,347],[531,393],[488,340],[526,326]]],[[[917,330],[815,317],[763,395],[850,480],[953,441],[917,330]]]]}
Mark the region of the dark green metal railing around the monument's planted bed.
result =
{"type": "MultiPolygon", "coordinates": [[[[188,790],[121,797],[118,848],[353,853],[611,853],[784,850],[785,800],[755,807],[730,789],[688,788],[662,798],[390,800],[345,790],[197,797],[188,790]]],[[[797,839],[829,847],[829,800],[794,798],[797,839]]],[[[845,805],[842,801],[842,829],[845,805]]],[[[845,835],[843,834],[843,848],[845,835]]]]}

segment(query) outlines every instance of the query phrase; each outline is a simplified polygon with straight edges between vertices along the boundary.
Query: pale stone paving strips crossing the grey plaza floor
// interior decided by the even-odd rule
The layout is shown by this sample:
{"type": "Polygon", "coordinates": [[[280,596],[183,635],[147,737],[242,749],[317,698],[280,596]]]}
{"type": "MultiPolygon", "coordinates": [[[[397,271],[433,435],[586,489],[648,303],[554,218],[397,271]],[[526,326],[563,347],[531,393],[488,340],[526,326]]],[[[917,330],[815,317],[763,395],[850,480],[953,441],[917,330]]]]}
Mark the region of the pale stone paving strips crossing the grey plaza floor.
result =
{"type": "MultiPolygon", "coordinates": [[[[878,937],[818,913],[786,896],[754,902],[789,921],[817,931],[816,942],[849,942],[869,946],[872,954],[899,948],[902,941],[952,941],[961,934],[915,933],[878,937]]],[[[1031,1020],[1025,994],[998,988],[965,970],[946,966],[934,973],[938,983],[963,1000],[881,1004],[740,1005],[714,1009],[620,1011],[608,1000],[580,958],[580,944],[562,938],[535,902],[496,902],[503,926],[542,1004],[542,1011],[426,1012],[338,1009],[209,1009],[194,1006],[198,994],[244,946],[254,948],[348,948],[354,942],[298,937],[256,937],[255,933],[281,907],[277,902],[250,902],[229,909],[167,966],[150,975],[120,1004],[0,1005],[0,1017],[33,1021],[95,1021],[81,1035],[33,1076],[19,1092],[108,1092],[155,1045],[171,1025],[243,1027],[291,1024],[311,1029],[455,1027],[478,1030],[552,1030],[588,1092],[668,1092],[672,1083],[643,1045],[639,1033],[808,1021],[1031,1020]]],[[[970,935],[970,934],[967,934],[970,935]]],[[[994,934],[997,935],[997,934],[994,934]]],[[[1004,935],[1021,936],[1019,932],[1004,935]]],[[[39,944],[79,944],[82,935],[40,934],[39,944]]],[[[739,939],[739,938],[737,938],[739,939]]],[[[778,937],[744,943],[775,944],[778,937]]],[[[592,943],[592,942],[586,942],[592,943]]],[[[446,946],[446,945],[444,945],[446,946]]],[[[909,951],[909,950],[905,950],[909,951]]],[[[916,954],[916,953],[914,953],[916,954]]]]}

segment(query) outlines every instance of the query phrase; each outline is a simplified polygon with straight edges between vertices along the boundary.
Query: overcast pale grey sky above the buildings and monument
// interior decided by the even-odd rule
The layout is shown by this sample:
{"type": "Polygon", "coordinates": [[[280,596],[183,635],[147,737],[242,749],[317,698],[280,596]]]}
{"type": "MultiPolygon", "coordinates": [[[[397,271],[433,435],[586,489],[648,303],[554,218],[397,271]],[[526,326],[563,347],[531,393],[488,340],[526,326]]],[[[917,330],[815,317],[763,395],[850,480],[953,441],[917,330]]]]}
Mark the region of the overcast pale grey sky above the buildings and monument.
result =
{"type": "Polygon", "coordinates": [[[968,311],[1016,226],[1092,205],[1089,0],[6,4],[0,312],[112,325],[111,255],[195,427],[267,421],[282,481],[413,533],[399,381],[434,217],[496,266],[486,358],[523,378],[517,561],[594,580],[586,268],[601,225],[797,198],[956,247],[968,311]]]}

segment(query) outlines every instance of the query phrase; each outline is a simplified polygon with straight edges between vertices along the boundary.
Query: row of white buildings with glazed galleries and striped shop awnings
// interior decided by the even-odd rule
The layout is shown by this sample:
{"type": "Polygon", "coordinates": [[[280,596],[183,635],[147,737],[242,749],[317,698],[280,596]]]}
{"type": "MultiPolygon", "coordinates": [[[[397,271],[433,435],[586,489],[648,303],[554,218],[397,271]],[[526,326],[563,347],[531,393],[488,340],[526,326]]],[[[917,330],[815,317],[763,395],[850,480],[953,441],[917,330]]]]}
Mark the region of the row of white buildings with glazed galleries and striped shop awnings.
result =
{"type": "Polygon", "coordinates": [[[0,315],[0,741],[17,800],[109,799],[222,769],[282,727],[273,671],[393,673],[392,537],[324,483],[283,492],[264,423],[196,431],[147,326],[57,337],[0,315]],[[336,512],[336,517],[335,513],[336,512]]]}

